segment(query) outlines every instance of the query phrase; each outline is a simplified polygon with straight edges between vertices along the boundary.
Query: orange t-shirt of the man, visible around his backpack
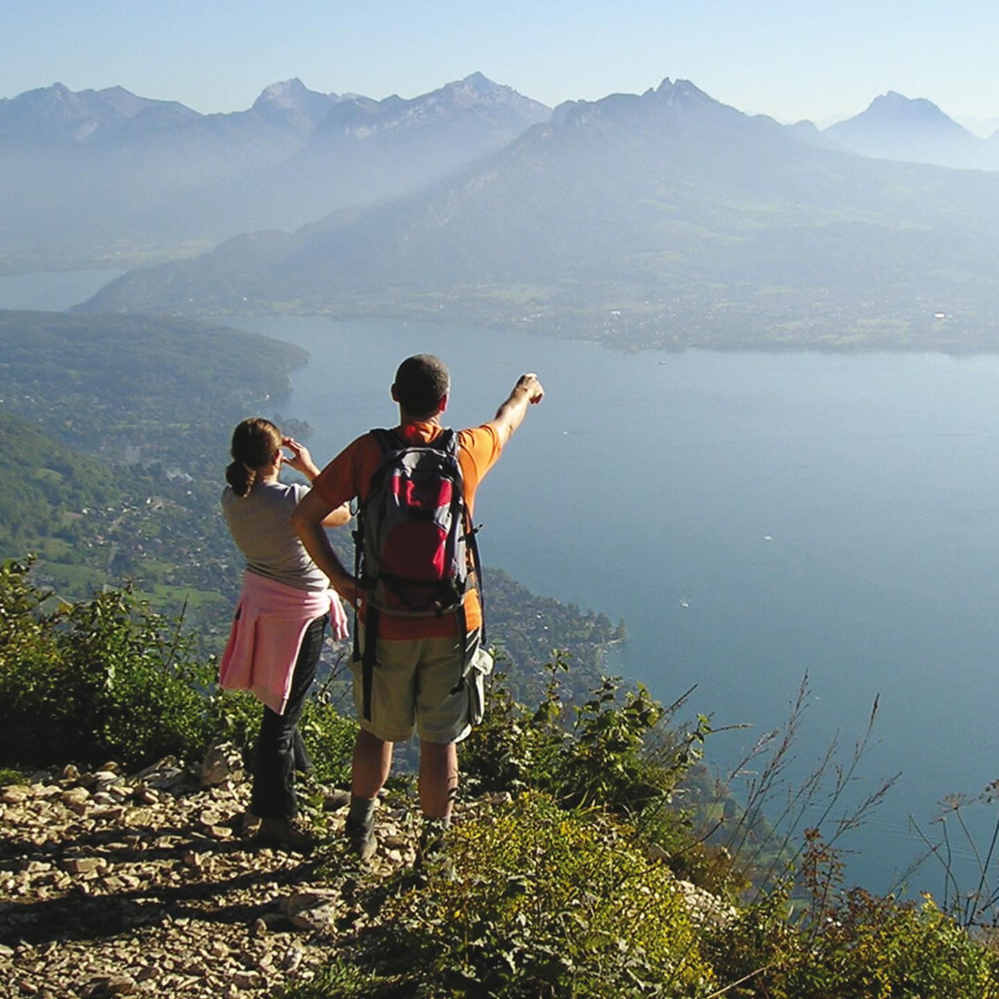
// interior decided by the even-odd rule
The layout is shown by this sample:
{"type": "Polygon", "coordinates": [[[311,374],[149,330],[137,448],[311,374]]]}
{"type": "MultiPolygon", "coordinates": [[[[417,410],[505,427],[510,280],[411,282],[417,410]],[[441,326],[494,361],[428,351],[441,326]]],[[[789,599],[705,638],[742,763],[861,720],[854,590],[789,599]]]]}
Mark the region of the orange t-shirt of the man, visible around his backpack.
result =
{"type": "MultiPolygon", "coordinates": [[[[415,423],[397,427],[395,433],[414,445],[430,444],[443,428],[437,424],[415,423]]],[[[489,425],[460,431],[458,435],[458,462],[462,467],[465,504],[469,515],[473,513],[476,490],[486,473],[500,458],[500,436],[489,425]]],[[[329,506],[335,508],[357,498],[364,502],[368,496],[372,476],[383,458],[382,448],[371,434],[359,437],[348,445],[316,478],[313,489],[329,506]]],[[[364,607],[361,608],[362,617],[364,607]]],[[[479,593],[470,590],[465,597],[465,615],[469,630],[483,623],[479,593]]],[[[455,614],[442,617],[404,617],[382,612],[380,637],[389,640],[409,638],[441,638],[457,633],[455,614]]]]}

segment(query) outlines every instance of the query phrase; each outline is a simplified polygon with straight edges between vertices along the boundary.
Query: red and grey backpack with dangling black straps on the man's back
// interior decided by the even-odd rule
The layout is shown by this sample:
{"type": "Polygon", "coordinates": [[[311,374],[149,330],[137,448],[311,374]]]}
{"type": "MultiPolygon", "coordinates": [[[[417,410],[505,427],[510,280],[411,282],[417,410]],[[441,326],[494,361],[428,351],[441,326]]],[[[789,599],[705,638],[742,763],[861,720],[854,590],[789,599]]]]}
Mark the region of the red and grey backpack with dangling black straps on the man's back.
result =
{"type": "MultiPolygon", "coordinates": [[[[371,718],[372,671],[379,619],[454,613],[468,652],[465,594],[482,590],[476,529],[465,502],[458,435],[442,431],[429,444],[410,444],[393,431],[374,430],[382,461],[358,510],[355,574],[367,594],[361,656],[364,712],[371,718]]],[[[355,627],[355,641],[358,629],[355,627]]],[[[484,636],[485,640],[485,636],[484,636]]],[[[355,646],[355,656],[359,649],[355,646]]]]}

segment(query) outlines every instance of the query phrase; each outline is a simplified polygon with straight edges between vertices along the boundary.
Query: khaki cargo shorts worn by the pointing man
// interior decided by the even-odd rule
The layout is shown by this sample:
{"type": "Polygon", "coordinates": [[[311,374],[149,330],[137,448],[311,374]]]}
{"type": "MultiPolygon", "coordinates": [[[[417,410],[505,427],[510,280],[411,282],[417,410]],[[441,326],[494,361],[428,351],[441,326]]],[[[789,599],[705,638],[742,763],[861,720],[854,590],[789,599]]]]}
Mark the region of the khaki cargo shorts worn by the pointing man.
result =
{"type": "MultiPolygon", "coordinates": [[[[359,647],[365,647],[359,626],[359,647]]],[[[366,731],[387,742],[405,742],[414,728],[424,742],[461,742],[483,719],[485,677],[493,671],[493,656],[479,644],[478,630],[469,635],[469,653],[462,662],[457,635],[386,641],[379,638],[372,678],[372,716],[364,717],[360,659],[351,660],[354,705],[366,731]],[[460,690],[459,679],[465,676],[460,690]]]]}

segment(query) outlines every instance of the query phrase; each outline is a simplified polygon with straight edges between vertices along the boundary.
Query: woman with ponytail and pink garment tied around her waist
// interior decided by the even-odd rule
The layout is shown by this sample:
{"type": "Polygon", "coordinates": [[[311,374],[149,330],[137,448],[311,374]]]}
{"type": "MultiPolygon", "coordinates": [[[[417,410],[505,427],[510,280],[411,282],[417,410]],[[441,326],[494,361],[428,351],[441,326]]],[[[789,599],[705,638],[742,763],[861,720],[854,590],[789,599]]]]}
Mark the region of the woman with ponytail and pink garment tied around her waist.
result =
{"type": "MultiPolygon", "coordinates": [[[[347,617],[330,580],[289,522],[309,487],[286,486],[279,475],[287,464],[311,483],[319,469],[307,448],[282,437],[271,421],[261,418],[244,420],[236,428],[232,456],[222,509],[247,565],[219,683],[226,689],[252,690],[265,705],[250,806],[261,819],[258,838],[307,852],[313,837],[297,818],[295,798],[296,757],[308,759],[298,722],[316,676],[327,615],[332,615],[339,638],[347,635],[347,617]]],[[[344,505],[323,522],[336,527],[350,518],[344,505]]]]}

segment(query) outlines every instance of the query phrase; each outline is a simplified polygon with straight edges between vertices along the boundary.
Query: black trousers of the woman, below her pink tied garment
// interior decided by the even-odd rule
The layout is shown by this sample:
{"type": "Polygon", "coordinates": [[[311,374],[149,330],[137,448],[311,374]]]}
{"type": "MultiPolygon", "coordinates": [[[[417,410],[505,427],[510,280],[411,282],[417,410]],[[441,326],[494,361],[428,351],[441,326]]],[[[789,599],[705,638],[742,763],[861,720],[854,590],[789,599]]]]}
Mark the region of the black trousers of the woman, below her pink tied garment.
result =
{"type": "Polygon", "coordinates": [[[264,708],[264,720],[257,736],[250,803],[251,811],[259,818],[294,818],[298,813],[295,770],[310,768],[299,734],[299,718],[302,717],[309,688],[316,678],[325,627],[324,614],[312,621],[302,636],[285,713],[278,714],[269,707],[264,708]]]}

